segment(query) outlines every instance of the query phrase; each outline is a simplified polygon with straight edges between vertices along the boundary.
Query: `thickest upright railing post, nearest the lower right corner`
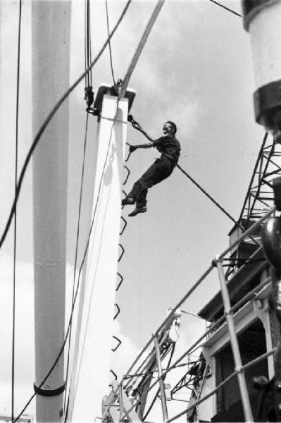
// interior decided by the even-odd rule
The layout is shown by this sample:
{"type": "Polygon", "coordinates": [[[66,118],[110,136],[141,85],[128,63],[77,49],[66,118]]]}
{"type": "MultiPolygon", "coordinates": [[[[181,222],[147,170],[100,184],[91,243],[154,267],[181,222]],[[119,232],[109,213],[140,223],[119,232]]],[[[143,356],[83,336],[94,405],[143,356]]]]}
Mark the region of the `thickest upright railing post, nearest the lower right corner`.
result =
{"type": "Polygon", "coordinates": [[[232,311],[230,307],[230,298],[227,291],[225,274],[223,271],[223,264],[220,258],[216,258],[215,262],[216,262],[216,266],[218,267],[218,277],[220,279],[220,290],[221,290],[221,294],[223,298],[223,305],[225,308],[225,319],[227,321],[227,327],[230,333],[230,344],[231,344],[233,358],[235,362],[235,372],[237,373],[239,390],[240,390],[241,400],[242,400],[242,405],[244,410],[244,417],[246,422],[253,422],[254,420],[253,420],[253,415],[251,412],[249,393],[246,388],[246,380],[245,380],[244,371],[242,370],[242,361],[241,361],[237,336],[235,333],[235,324],[233,321],[232,311]]]}

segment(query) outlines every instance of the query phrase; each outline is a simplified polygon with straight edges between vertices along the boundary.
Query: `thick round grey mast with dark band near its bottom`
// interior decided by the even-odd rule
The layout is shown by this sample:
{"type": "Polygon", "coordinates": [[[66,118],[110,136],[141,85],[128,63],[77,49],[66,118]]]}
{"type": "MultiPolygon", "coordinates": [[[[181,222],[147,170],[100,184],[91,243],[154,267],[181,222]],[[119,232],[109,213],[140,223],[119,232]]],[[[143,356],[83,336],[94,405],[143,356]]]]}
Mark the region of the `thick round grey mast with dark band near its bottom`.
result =
{"type": "MultiPolygon", "coordinates": [[[[32,1],[34,134],[69,85],[70,10],[70,1],[32,1]]],[[[60,422],[63,418],[63,355],[44,384],[42,381],[64,339],[67,169],[66,101],[33,156],[37,422],[60,422]]]]}

